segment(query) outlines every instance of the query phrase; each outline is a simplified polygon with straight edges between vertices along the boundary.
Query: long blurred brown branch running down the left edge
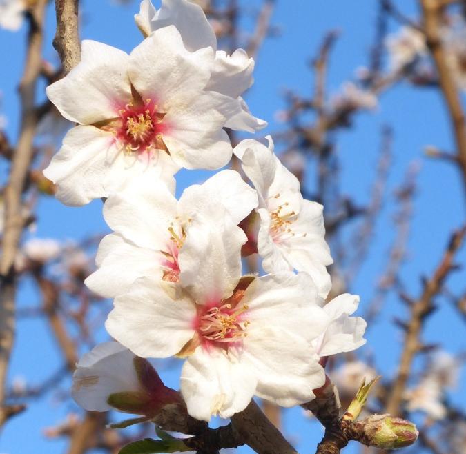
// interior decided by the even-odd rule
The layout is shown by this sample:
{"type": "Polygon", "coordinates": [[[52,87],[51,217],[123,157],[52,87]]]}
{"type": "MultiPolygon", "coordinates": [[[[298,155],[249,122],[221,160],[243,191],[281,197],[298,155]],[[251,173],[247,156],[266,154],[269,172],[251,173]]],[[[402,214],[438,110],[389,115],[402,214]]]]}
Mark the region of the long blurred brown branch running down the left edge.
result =
{"type": "Polygon", "coordinates": [[[6,373],[14,339],[14,300],[16,297],[16,276],[14,257],[23,231],[23,190],[26,176],[34,153],[32,140],[37,128],[35,94],[37,78],[41,72],[41,48],[43,41],[43,20],[47,0],[38,0],[28,12],[30,31],[28,54],[23,78],[19,85],[21,97],[21,132],[12,158],[10,179],[5,188],[5,228],[3,230],[0,261],[0,426],[11,415],[4,408],[6,397],[6,373]]]}

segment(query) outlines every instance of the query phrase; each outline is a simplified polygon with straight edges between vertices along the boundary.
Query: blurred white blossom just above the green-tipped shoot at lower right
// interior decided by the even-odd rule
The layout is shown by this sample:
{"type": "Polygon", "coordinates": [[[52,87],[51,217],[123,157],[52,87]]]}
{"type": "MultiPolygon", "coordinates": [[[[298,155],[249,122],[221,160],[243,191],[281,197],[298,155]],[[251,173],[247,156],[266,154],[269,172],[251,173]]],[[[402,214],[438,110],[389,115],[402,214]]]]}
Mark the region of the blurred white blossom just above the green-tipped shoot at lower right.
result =
{"type": "Polygon", "coordinates": [[[358,392],[362,379],[366,383],[376,378],[376,371],[362,361],[344,362],[336,371],[330,373],[333,384],[338,388],[340,398],[351,400],[358,392]]]}

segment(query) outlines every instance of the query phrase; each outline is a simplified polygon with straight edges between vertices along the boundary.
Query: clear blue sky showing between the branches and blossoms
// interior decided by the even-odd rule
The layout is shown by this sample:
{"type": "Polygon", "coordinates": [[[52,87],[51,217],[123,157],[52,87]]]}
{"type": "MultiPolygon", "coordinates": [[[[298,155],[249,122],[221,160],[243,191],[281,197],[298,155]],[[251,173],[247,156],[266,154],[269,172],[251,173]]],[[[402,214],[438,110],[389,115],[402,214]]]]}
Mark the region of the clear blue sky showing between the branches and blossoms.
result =
{"type": "MultiPolygon", "coordinates": [[[[133,23],[137,1],[126,6],[117,6],[107,0],[83,0],[83,39],[95,39],[130,51],[140,40],[133,23]]],[[[258,1],[245,2],[249,5],[258,1]]],[[[332,52],[329,68],[329,91],[337,92],[343,81],[353,79],[358,67],[367,64],[377,1],[349,2],[344,0],[277,0],[272,23],[280,30],[280,37],[266,39],[256,61],[255,84],[248,93],[249,108],[258,117],[269,121],[266,133],[283,128],[275,121],[275,112],[284,108],[283,92],[291,88],[309,96],[313,76],[309,59],[315,55],[322,36],[331,29],[340,30],[340,37],[332,52]]],[[[402,3],[407,14],[416,14],[416,2],[402,3]]],[[[51,42],[55,26],[55,12],[48,8],[46,26],[46,59],[57,63],[57,55],[51,42]]],[[[246,23],[247,26],[247,23],[246,23]]],[[[394,23],[391,23],[396,28],[394,23]]],[[[19,103],[16,84],[19,80],[25,51],[26,29],[11,33],[0,30],[0,90],[1,113],[8,117],[8,134],[17,135],[19,103]]],[[[41,95],[43,96],[43,95],[41,95]]],[[[369,302],[378,276],[383,270],[387,250],[394,237],[392,215],[394,210],[392,191],[400,183],[411,161],[418,160],[422,170],[418,178],[418,195],[414,207],[414,220],[409,240],[409,259],[402,268],[402,279],[407,290],[415,296],[420,289],[420,275],[429,275],[436,266],[445,248],[452,228],[460,226],[465,219],[463,187],[456,170],[447,164],[423,157],[423,147],[435,144],[441,149],[452,150],[454,143],[445,115],[443,101],[436,90],[416,89],[401,83],[382,95],[376,112],[358,115],[353,128],[340,132],[338,153],[342,159],[342,192],[352,195],[358,204],[369,200],[373,172],[380,144],[380,128],[389,124],[394,128],[394,165],[389,177],[386,208],[376,226],[376,241],[367,263],[362,267],[351,291],[361,295],[362,308],[369,302]]],[[[4,166],[0,166],[1,181],[6,179],[4,166]]],[[[182,172],[178,187],[200,181],[204,174],[182,172]]],[[[309,184],[312,185],[312,175],[309,184]]],[[[79,239],[91,233],[106,231],[101,218],[101,203],[95,201],[83,208],[68,208],[52,198],[39,203],[38,237],[79,239]]],[[[458,260],[465,262],[465,250],[458,260]]],[[[465,273],[451,279],[452,290],[463,289],[465,273]]],[[[25,284],[21,288],[19,306],[30,306],[37,298],[34,288],[25,284]]],[[[376,326],[371,326],[367,346],[361,355],[373,355],[381,373],[390,376],[396,370],[402,333],[392,324],[394,315],[405,316],[405,308],[391,295],[385,304],[376,326]]],[[[425,339],[428,343],[443,343],[448,351],[465,351],[464,324],[458,319],[447,302],[440,300],[440,309],[429,320],[425,339]]],[[[102,333],[104,337],[104,333],[102,333]]],[[[13,352],[10,376],[24,376],[32,383],[48,377],[57,366],[57,347],[43,324],[35,319],[19,322],[17,342],[13,352]]],[[[417,367],[422,364],[416,362],[417,367]]],[[[464,368],[463,368],[464,369],[464,368]]],[[[176,371],[162,375],[173,387],[177,387],[176,371]]],[[[456,396],[466,396],[465,371],[456,396]]],[[[64,386],[66,389],[66,386],[64,386]]],[[[32,402],[28,411],[12,420],[0,439],[0,453],[61,453],[64,442],[50,441],[43,437],[45,426],[57,424],[68,413],[78,411],[74,404],[58,404],[48,396],[32,402]],[[28,433],[24,436],[25,429],[28,433]]],[[[285,412],[285,429],[301,452],[312,451],[320,440],[320,428],[301,417],[299,408],[285,412]],[[309,430],[311,426],[312,430],[309,430]]],[[[246,452],[246,451],[244,451],[246,452]]],[[[345,451],[351,454],[352,449],[345,451]]],[[[356,452],[356,451],[354,451],[356,452]]],[[[418,452],[418,451],[416,451],[418,452]]]]}

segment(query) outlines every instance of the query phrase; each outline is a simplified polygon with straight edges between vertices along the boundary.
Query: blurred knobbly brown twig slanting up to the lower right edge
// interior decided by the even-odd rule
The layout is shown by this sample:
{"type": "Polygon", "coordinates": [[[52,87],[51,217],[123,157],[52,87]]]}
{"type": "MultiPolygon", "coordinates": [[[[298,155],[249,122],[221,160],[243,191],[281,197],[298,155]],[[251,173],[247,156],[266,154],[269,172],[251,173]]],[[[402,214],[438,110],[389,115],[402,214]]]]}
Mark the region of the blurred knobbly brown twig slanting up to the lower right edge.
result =
{"type": "Polygon", "coordinates": [[[392,415],[400,413],[403,392],[411,373],[411,364],[422,346],[420,333],[423,329],[423,321],[434,308],[432,299],[440,293],[445,279],[455,268],[454,256],[463,243],[465,235],[466,226],[452,235],[447,250],[440,264],[437,266],[434,275],[424,282],[423,292],[420,297],[416,301],[411,302],[411,319],[407,323],[400,366],[398,367],[398,373],[391,386],[391,393],[387,401],[387,413],[391,413],[392,415]]]}

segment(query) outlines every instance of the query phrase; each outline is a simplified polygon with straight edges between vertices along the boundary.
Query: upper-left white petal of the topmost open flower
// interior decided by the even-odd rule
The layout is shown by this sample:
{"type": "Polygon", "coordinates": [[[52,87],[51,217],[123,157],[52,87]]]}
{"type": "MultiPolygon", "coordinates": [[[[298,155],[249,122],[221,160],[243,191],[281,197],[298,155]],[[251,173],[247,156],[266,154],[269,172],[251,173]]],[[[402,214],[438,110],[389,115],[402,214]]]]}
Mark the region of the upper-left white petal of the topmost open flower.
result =
{"type": "Polygon", "coordinates": [[[118,117],[131,99],[129,56],[97,41],[84,40],[81,61],[66,77],[47,87],[47,96],[70,121],[93,124],[118,117]]]}

